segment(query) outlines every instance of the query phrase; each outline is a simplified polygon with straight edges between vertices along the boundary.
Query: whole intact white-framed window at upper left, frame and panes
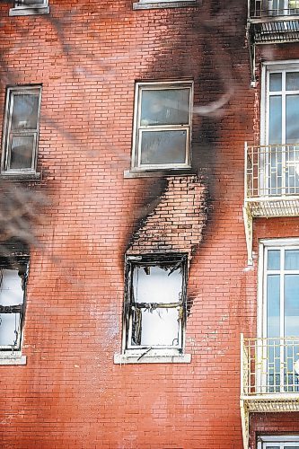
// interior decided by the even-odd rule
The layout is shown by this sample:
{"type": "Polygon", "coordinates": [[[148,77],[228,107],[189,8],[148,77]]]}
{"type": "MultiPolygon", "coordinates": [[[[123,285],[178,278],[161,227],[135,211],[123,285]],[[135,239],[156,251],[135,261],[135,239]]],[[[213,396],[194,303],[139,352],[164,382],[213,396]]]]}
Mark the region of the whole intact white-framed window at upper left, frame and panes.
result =
{"type": "Polygon", "coordinates": [[[40,87],[10,87],[6,117],[2,174],[35,173],[40,128],[40,87]]]}

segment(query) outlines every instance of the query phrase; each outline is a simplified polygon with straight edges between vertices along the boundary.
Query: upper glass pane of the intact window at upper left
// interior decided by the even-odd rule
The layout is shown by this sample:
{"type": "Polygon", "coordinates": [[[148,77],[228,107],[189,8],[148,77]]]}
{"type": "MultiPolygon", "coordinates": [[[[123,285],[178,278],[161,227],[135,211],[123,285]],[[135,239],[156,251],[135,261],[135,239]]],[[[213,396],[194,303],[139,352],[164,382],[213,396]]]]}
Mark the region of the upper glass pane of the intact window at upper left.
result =
{"type": "Polygon", "coordinates": [[[13,94],[12,129],[36,129],[38,111],[39,95],[13,94]]]}

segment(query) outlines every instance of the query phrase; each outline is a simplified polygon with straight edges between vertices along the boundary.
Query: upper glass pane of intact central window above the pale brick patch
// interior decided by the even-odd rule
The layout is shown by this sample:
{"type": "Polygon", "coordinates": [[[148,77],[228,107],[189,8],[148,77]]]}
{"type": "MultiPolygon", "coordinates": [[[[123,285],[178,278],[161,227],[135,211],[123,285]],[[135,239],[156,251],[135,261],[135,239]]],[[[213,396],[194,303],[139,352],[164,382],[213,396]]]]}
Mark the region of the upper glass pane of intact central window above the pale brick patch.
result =
{"type": "Polygon", "coordinates": [[[140,124],[188,125],[189,89],[143,90],[140,124]]]}

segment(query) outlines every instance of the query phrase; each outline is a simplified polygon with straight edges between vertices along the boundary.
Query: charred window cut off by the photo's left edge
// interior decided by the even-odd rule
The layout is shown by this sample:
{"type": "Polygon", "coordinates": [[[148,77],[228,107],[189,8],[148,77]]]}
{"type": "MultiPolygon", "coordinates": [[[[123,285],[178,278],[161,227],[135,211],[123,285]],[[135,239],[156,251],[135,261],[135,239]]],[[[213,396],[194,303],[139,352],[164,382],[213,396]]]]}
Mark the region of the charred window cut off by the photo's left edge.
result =
{"type": "Polygon", "coordinates": [[[0,357],[21,354],[28,255],[0,258],[0,357]]]}

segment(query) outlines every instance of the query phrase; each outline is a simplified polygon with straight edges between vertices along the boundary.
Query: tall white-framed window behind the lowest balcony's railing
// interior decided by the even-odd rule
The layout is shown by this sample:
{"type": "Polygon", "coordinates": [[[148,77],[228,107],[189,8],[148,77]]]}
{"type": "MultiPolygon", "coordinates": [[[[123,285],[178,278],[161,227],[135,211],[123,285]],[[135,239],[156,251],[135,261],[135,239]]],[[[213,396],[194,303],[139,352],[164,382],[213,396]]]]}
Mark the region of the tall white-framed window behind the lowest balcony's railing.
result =
{"type": "Polygon", "coordinates": [[[257,378],[262,392],[299,392],[299,239],[260,242],[257,378]]]}

